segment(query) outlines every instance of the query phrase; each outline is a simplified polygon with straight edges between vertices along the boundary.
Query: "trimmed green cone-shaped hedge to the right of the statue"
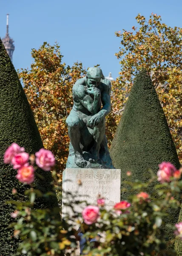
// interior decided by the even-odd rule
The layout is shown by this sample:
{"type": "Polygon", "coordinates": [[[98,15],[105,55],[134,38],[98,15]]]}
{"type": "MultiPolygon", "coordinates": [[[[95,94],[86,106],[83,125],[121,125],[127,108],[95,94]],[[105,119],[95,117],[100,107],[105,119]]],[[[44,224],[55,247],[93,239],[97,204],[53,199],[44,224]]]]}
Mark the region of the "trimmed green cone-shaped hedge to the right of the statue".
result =
{"type": "MultiPolygon", "coordinates": [[[[131,181],[146,182],[148,169],[156,174],[163,161],[171,162],[177,169],[180,167],[165,114],[151,77],[144,69],[136,76],[110,154],[114,167],[121,169],[122,187],[122,181],[127,180],[127,171],[132,173],[131,181]]],[[[121,194],[122,200],[128,196],[128,192],[121,194]]],[[[179,209],[172,210],[172,215],[172,222],[176,224],[179,209]]],[[[169,238],[173,238],[173,231],[167,232],[169,238]]]]}

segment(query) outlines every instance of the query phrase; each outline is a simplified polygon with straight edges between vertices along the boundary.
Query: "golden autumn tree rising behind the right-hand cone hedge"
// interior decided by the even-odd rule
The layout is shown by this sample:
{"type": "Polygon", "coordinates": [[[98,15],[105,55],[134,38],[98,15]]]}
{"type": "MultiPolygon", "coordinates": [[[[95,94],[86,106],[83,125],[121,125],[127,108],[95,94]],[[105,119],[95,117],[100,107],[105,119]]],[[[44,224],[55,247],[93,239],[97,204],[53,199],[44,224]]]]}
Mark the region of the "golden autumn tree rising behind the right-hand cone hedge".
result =
{"type": "MultiPolygon", "coordinates": [[[[140,14],[136,20],[138,28],[116,32],[122,45],[116,53],[121,70],[113,83],[110,116],[119,123],[134,77],[144,67],[151,76],[182,161],[182,28],[167,26],[153,13],[148,21],[140,14]]],[[[112,127],[112,134],[115,129],[112,127]]]]}

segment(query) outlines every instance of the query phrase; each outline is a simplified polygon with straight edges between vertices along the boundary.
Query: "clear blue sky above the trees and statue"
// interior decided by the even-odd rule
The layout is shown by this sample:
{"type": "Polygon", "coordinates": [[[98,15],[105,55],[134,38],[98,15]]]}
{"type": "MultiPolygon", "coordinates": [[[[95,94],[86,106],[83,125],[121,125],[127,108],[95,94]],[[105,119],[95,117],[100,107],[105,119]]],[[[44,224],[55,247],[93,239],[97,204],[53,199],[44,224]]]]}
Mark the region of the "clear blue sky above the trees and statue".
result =
{"type": "Polygon", "coordinates": [[[100,64],[104,75],[112,72],[115,79],[120,66],[114,53],[120,40],[114,32],[131,30],[138,13],[149,17],[154,12],[168,26],[182,27],[182,0],[1,0],[0,6],[0,37],[6,34],[10,14],[16,69],[30,67],[32,48],[57,41],[66,64],[100,64]]]}

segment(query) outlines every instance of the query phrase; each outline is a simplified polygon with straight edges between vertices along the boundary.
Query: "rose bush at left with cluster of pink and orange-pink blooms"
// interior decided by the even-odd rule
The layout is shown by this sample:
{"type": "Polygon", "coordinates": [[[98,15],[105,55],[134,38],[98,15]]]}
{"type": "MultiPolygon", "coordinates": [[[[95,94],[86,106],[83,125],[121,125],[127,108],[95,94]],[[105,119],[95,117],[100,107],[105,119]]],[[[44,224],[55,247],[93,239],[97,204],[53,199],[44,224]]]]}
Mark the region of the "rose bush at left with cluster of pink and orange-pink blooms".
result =
{"type": "MultiPolygon", "coordinates": [[[[31,189],[25,191],[29,201],[21,201],[21,195],[17,189],[13,188],[12,194],[17,197],[17,200],[8,202],[17,207],[14,212],[11,212],[11,217],[17,220],[11,225],[14,227],[14,237],[22,238],[17,255],[28,253],[28,256],[65,256],[66,250],[73,251],[77,246],[76,239],[73,238],[77,236],[77,232],[67,222],[60,220],[60,209],[36,209],[34,207],[36,198],[47,200],[53,195],[53,192],[42,194],[36,189],[37,184],[34,183],[38,167],[41,166],[44,171],[50,171],[54,166],[55,159],[52,152],[42,148],[35,156],[29,156],[24,152],[24,148],[13,143],[4,154],[4,163],[14,165],[14,169],[17,169],[16,178],[20,182],[31,184],[31,189]]],[[[53,171],[53,175],[55,173],[53,171]]],[[[56,180],[56,176],[54,178],[56,180]]]]}

